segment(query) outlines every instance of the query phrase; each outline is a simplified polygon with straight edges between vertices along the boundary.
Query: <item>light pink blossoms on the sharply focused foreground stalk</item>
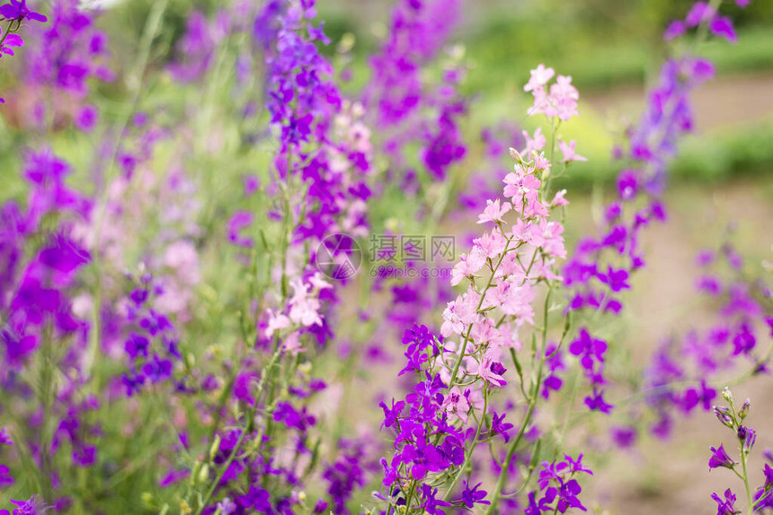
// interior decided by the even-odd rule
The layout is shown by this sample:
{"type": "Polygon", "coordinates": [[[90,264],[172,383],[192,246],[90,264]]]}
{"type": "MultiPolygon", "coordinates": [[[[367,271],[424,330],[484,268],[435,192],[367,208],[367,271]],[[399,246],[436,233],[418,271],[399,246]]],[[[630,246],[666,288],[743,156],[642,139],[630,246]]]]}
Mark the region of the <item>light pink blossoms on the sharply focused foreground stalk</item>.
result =
{"type": "MultiPolygon", "coordinates": [[[[550,68],[540,65],[531,72],[531,80],[526,88],[535,92],[535,105],[541,89],[554,74],[550,68]],[[539,91],[539,92],[538,92],[539,91]]],[[[562,83],[569,83],[566,77],[562,83]]],[[[571,87],[571,86],[570,86],[571,87]]],[[[549,118],[563,114],[576,113],[576,90],[574,107],[569,109],[561,88],[556,90],[551,105],[562,106],[559,111],[544,112],[549,118]]],[[[572,88],[573,89],[573,88],[572,88]]],[[[550,96],[553,96],[553,92],[550,96]]],[[[552,108],[551,108],[552,109],[552,108]]],[[[536,109],[531,109],[536,114],[536,109]]],[[[455,301],[449,302],[443,311],[441,334],[448,338],[459,336],[466,345],[475,345],[472,354],[465,354],[466,373],[480,376],[483,380],[501,387],[506,384],[502,377],[504,371],[499,362],[502,349],[520,350],[519,329],[534,324],[532,302],[539,283],[548,286],[562,281],[555,265],[557,259],[566,257],[564,248],[564,227],[550,219],[551,211],[569,204],[560,191],[547,200],[543,179],[549,176],[551,163],[543,152],[546,138],[538,129],[533,138],[527,134],[527,146],[523,153],[511,149],[516,160],[514,170],[504,178],[503,196],[487,200],[484,212],[478,216],[478,223],[493,224],[493,229],[474,240],[473,249],[462,254],[459,263],[454,266],[451,284],[457,285],[467,280],[466,292],[455,301]],[[516,214],[514,223],[509,224],[505,215],[516,214]],[[483,271],[488,275],[487,283],[477,281],[483,271]],[[475,359],[467,356],[475,355],[475,359]]],[[[573,153],[574,142],[571,144],[573,153]]],[[[570,158],[564,151],[564,157],[570,158]]],[[[575,158],[576,159],[576,158],[575,158]]],[[[565,159],[564,161],[573,161],[565,159]]],[[[446,344],[449,347],[449,342],[446,344]]],[[[442,372],[441,372],[442,374],[442,372]]],[[[446,371],[449,379],[449,372],[446,371]]]]}

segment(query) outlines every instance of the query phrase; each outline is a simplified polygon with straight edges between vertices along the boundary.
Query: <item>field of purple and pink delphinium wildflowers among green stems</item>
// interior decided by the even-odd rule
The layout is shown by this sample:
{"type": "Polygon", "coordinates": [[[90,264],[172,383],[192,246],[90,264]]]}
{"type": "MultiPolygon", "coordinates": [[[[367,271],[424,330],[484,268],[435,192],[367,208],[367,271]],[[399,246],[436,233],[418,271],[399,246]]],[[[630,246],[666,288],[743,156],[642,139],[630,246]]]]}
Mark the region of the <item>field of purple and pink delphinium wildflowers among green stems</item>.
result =
{"type": "Polygon", "coordinates": [[[364,61],[315,0],[141,4],[0,1],[0,514],[773,511],[773,257],[669,189],[750,0],[662,27],[598,165],[550,62],[480,123],[471,2],[395,0],[364,61]],[[692,301],[637,335],[658,245],[692,301]],[[688,417],[697,501],[616,501],[688,417]]]}

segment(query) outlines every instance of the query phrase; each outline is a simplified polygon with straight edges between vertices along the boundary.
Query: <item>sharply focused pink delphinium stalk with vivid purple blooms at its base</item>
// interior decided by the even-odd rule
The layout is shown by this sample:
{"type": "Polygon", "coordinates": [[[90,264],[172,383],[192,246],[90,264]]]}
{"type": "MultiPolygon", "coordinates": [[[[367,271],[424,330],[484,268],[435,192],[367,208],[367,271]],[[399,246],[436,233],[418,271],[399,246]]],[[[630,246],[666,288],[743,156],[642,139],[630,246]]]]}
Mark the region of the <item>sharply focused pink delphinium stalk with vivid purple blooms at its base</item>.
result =
{"type": "MultiPolygon", "coordinates": [[[[571,101],[564,99],[571,97],[575,101],[577,95],[566,84],[568,81],[562,80],[564,89],[555,91],[555,103],[570,113],[571,101]]],[[[558,112],[547,114],[558,119],[558,112]]],[[[552,144],[551,153],[557,146],[555,137],[552,144]]],[[[549,320],[546,308],[540,320],[542,327],[534,327],[532,303],[538,289],[544,287],[546,306],[549,304],[552,290],[562,280],[556,261],[565,257],[563,228],[550,220],[565,201],[551,202],[547,189],[551,162],[542,150],[530,149],[526,154],[511,149],[515,165],[503,180],[505,198],[486,203],[478,221],[491,231],[475,239],[473,248],[462,254],[454,267],[451,284],[466,284],[466,291],[444,310],[440,336],[423,326],[405,331],[407,363],[401,374],[410,372],[418,382],[404,400],[393,400],[391,406],[381,404],[383,427],[395,435],[395,453],[381,460],[385,476],[379,498],[395,509],[434,513],[444,512],[443,507],[490,502],[487,510],[493,511],[511,476],[508,471],[516,450],[522,451],[519,445],[525,433],[533,430],[531,416],[545,379],[549,320]],[[513,218],[514,223],[510,223],[513,218]],[[518,358],[522,339],[530,339],[533,348],[535,382],[529,387],[530,393],[518,358]],[[512,424],[504,414],[493,411],[491,400],[496,390],[509,383],[509,367],[503,364],[508,354],[518,372],[515,381],[521,384],[528,404],[514,438],[510,434],[512,424]],[[491,446],[490,441],[500,435],[507,451],[493,496],[489,498],[479,486],[473,493],[469,486],[475,481],[468,467],[473,463],[474,451],[481,443],[491,446]],[[463,478],[465,483],[461,483],[463,478]],[[458,493],[462,484],[464,490],[458,493]]],[[[554,348],[553,353],[556,351],[554,348]]],[[[558,367],[555,364],[554,370],[558,367]]],[[[576,470],[582,468],[579,461],[576,465],[576,470]]],[[[559,468],[563,470],[564,466],[559,468]]],[[[556,509],[564,512],[570,505],[580,506],[576,502],[576,481],[562,478],[559,483],[549,490],[551,502],[556,494],[559,497],[556,509]]]]}

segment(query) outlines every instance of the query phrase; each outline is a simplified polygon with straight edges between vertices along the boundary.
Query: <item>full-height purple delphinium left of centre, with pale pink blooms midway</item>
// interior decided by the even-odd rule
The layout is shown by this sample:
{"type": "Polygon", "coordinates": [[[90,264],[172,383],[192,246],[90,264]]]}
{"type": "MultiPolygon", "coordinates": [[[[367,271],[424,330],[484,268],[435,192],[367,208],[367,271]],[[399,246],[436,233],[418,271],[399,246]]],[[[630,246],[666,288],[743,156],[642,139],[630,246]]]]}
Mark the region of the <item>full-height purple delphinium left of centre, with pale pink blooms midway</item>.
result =
{"type": "Polygon", "coordinates": [[[209,406],[211,431],[221,443],[208,463],[208,493],[191,503],[211,513],[218,499],[228,497],[241,510],[288,512],[305,505],[298,492],[308,476],[321,473],[330,484],[330,501],[343,510],[349,490],[363,481],[362,468],[358,472],[352,457],[317,471],[316,458],[310,459],[324,432],[312,404],[326,388],[310,371],[331,336],[328,320],[336,298],[333,281],[311,263],[325,237],[367,233],[370,131],[362,106],[342,98],[332,67],[318,51],[316,45],[327,39],[315,22],[313,2],[265,4],[253,36],[265,56],[266,108],[276,152],[269,180],[245,182],[244,195],[249,199],[261,191],[275,229],[256,226],[256,212],[238,209],[228,238],[252,277],[256,259],[262,259],[254,247],[262,248],[267,239],[276,245],[265,249],[270,258],[262,262],[270,281],[247,289],[249,304],[240,322],[244,354],[209,406]],[[286,389],[275,388],[277,373],[286,389]],[[244,481],[254,483],[248,492],[244,481]]]}

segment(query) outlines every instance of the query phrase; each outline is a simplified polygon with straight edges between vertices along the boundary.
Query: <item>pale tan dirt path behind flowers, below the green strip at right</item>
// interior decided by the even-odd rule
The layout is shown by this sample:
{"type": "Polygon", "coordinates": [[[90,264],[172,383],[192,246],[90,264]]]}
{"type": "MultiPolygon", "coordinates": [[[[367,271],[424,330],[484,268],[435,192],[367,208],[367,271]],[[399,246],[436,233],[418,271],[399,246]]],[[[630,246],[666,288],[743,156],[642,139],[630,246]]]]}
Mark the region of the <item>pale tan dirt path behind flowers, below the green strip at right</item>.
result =
{"type": "MultiPolygon", "coordinates": [[[[670,220],[653,226],[646,234],[647,266],[635,276],[635,298],[628,308],[626,345],[636,358],[648,360],[664,336],[684,334],[710,320],[711,311],[694,293],[698,249],[714,246],[725,223],[738,223],[737,242],[751,261],[773,259],[773,180],[731,184],[712,190],[683,185],[671,190],[666,200],[670,220]]],[[[770,341],[760,339],[767,348],[770,341]]],[[[773,377],[760,376],[733,388],[736,397],[751,397],[748,422],[759,431],[751,461],[754,483],[762,482],[761,451],[773,447],[773,377]]],[[[618,422],[625,422],[624,419],[618,422]]],[[[616,515],[692,515],[714,513],[713,492],[728,487],[742,497],[742,484],[728,470],[709,473],[709,446],[724,441],[733,445],[732,434],[711,413],[694,412],[675,424],[669,442],[648,437],[636,450],[616,453],[614,459],[589,483],[589,493],[600,506],[616,515]]]]}

